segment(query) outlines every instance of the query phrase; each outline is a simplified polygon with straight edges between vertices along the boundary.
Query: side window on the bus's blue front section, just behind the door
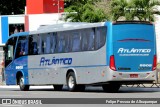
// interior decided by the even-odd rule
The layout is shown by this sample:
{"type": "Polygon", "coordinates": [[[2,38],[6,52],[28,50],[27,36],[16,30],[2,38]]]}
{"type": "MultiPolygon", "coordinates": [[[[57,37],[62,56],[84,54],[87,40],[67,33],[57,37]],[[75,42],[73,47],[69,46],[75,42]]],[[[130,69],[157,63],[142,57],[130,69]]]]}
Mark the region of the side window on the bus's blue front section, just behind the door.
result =
{"type": "Polygon", "coordinates": [[[28,37],[20,36],[18,38],[15,58],[18,58],[24,55],[28,55],[28,37]]]}

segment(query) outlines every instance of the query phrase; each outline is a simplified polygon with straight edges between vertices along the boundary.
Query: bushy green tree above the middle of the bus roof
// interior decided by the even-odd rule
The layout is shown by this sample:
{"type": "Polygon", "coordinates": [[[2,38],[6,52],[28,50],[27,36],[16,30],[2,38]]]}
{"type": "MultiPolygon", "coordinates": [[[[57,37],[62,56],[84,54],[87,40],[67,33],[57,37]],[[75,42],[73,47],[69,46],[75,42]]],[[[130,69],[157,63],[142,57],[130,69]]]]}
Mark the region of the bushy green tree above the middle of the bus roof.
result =
{"type": "Polygon", "coordinates": [[[65,11],[68,12],[66,20],[71,22],[100,22],[106,19],[104,11],[95,8],[98,0],[77,0],[65,11]]]}

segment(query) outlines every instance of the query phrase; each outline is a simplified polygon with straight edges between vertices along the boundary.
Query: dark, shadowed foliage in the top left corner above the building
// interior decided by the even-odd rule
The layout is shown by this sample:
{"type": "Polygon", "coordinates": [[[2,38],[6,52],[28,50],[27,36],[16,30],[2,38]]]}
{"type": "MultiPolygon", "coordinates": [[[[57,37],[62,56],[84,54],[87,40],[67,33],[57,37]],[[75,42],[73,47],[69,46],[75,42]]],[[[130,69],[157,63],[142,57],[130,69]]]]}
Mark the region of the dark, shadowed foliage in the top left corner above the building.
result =
{"type": "Polygon", "coordinates": [[[26,0],[0,0],[0,14],[23,14],[26,0]]]}

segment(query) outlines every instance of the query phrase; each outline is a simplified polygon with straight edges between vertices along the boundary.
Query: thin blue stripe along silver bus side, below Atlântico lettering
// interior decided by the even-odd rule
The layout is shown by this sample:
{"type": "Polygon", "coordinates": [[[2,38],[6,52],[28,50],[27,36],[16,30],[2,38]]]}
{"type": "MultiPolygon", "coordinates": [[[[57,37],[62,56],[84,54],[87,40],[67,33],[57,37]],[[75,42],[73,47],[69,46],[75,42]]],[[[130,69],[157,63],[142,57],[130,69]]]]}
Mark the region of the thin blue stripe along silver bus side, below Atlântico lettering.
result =
{"type": "MultiPolygon", "coordinates": [[[[59,68],[93,68],[93,67],[103,67],[107,65],[89,65],[89,66],[67,66],[67,67],[59,67],[59,68]]],[[[46,68],[29,68],[29,69],[54,69],[54,67],[46,67],[46,68]]]]}

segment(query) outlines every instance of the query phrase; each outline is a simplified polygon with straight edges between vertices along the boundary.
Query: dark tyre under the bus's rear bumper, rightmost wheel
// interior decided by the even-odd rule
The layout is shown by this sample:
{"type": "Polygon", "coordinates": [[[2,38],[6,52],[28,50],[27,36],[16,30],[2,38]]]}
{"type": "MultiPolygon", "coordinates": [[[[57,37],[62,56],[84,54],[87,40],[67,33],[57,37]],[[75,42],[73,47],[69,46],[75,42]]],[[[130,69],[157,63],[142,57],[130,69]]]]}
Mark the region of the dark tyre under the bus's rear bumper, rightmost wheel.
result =
{"type": "Polygon", "coordinates": [[[102,85],[103,90],[105,92],[109,92],[109,93],[118,92],[120,87],[121,87],[120,84],[104,84],[104,85],[102,85]]]}

